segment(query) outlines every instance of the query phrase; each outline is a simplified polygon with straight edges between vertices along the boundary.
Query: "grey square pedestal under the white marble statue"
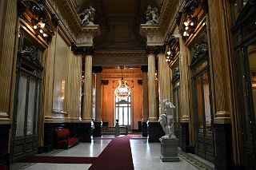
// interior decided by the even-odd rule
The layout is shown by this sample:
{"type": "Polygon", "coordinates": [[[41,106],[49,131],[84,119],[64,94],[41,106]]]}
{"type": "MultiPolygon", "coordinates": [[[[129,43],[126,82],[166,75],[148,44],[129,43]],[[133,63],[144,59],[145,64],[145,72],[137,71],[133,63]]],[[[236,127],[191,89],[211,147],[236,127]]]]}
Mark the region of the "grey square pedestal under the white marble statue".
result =
{"type": "Polygon", "coordinates": [[[178,139],[161,137],[159,140],[161,142],[160,160],[162,162],[178,162],[178,139]]]}

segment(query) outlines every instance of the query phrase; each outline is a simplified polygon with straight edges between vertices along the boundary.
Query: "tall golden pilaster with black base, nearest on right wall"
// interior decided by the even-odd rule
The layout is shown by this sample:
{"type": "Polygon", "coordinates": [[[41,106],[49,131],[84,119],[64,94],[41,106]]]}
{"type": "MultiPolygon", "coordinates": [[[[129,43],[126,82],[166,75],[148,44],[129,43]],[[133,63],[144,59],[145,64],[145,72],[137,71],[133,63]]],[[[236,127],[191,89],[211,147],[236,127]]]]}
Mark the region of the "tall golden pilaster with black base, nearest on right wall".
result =
{"type": "Polygon", "coordinates": [[[232,80],[230,51],[230,2],[208,1],[211,45],[211,77],[214,91],[214,132],[216,155],[214,166],[217,169],[230,169],[233,164],[242,164],[239,150],[238,120],[235,116],[234,83],[232,80]],[[220,50],[216,50],[220,49],[220,50]],[[230,117],[231,116],[231,117],[230,117]],[[232,125],[231,125],[232,122],[232,125]],[[234,163],[233,163],[234,161],[234,163]]]}

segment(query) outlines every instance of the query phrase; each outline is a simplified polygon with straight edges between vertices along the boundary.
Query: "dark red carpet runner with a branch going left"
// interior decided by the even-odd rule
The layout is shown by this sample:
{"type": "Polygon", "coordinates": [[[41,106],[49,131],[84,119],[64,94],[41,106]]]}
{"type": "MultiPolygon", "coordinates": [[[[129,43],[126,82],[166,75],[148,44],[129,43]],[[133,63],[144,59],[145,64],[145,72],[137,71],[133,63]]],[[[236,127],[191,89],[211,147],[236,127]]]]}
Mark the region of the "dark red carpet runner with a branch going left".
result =
{"type": "MultiPolygon", "coordinates": [[[[103,140],[102,138],[101,140],[103,140]]],[[[136,136],[121,136],[112,138],[98,157],[74,156],[33,156],[25,160],[30,163],[55,163],[55,164],[92,164],[90,170],[130,170],[134,169],[130,150],[130,139],[145,139],[136,136]]]]}

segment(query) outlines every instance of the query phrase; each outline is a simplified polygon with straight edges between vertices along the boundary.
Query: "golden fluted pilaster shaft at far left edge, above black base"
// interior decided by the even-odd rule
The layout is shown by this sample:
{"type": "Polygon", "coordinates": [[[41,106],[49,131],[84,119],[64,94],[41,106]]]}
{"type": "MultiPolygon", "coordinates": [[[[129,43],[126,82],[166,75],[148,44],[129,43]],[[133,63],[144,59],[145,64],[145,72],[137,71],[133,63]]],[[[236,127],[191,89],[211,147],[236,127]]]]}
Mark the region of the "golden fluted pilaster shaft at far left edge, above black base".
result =
{"type": "MultiPolygon", "coordinates": [[[[12,83],[15,80],[16,55],[14,53],[15,37],[18,35],[16,29],[17,1],[3,1],[3,8],[0,40],[0,123],[10,124],[10,112],[12,111],[12,83]]],[[[1,22],[0,22],[1,23],[1,22]]]]}

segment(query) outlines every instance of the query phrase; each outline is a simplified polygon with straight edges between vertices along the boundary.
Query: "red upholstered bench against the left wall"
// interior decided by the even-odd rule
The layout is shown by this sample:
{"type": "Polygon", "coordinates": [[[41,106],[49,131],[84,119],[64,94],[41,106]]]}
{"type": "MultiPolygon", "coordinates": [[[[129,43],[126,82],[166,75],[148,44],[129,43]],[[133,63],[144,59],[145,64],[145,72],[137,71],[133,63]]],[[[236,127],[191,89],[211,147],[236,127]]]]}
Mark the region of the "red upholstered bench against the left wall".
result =
{"type": "Polygon", "coordinates": [[[57,128],[56,137],[58,148],[71,148],[72,146],[79,144],[77,136],[70,137],[70,130],[68,128],[57,128]]]}

